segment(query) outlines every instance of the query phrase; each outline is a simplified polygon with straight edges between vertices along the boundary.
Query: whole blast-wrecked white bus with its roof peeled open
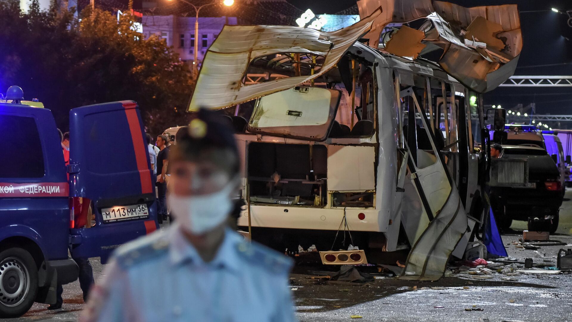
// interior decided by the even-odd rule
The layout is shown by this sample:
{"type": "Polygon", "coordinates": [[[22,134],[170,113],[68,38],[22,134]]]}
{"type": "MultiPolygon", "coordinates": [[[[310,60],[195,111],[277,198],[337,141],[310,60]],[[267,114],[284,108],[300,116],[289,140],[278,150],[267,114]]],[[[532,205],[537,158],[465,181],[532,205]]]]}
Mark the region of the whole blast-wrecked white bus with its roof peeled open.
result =
{"type": "MultiPolygon", "coordinates": [[[[451,254],[463,256],[484,205],[486,113],[482,95],[458,79],[480,92],[490,84],[475,69],[400,57],[391,40],[383,50],[363,44],[381,17],[372,11],[330,33],[225,26],[189,111],[236,108],[246,203],[238,223],[252,239],[282,252],[315,245],[323,264],[380,263],[400,251],[404,278],[435,280],[451,254]]],[[[444,28],[426,16],[424,34],[444,28]]],[[[443,42],[442,33],[431,37],[443,42]]]]}

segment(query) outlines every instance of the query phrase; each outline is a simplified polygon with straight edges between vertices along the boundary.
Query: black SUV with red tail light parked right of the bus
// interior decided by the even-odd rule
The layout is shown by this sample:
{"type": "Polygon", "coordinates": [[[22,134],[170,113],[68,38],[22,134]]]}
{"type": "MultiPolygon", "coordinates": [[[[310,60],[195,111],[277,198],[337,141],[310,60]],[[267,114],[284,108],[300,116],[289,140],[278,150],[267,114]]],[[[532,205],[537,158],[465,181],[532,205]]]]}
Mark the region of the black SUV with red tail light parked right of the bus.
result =
{"type": "Polygon", "coordinates": [[[554,233],[563,187],[546,150],[503,145],[501,158],[491,161],[491,206],[499,228],[509,228],[513,219],[540,218],[550,219],[550,233],[554,233]]]}

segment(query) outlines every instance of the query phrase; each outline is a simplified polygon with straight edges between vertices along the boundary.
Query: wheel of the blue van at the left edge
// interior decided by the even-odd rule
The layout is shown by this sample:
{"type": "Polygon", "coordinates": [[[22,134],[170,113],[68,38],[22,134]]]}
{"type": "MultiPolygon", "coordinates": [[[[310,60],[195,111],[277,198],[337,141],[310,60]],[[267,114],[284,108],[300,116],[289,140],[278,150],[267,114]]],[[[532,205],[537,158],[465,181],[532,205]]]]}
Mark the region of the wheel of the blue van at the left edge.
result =
{"type": "Polygon", "coordinates": [[[13,247],[0,253],[0,317],[26,313],[38,293],[38,269],[26,250],[13,247]]]}

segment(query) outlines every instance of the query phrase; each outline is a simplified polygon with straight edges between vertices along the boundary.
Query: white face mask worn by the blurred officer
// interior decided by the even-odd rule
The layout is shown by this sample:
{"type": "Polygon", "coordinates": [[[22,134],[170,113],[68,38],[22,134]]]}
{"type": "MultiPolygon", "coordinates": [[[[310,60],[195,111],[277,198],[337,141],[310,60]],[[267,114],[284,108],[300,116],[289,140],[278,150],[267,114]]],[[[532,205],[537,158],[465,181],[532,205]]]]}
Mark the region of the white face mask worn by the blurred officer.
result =
{"type": "Polygon", "coordinates": [[[236,181],[231,180],[222,190],[208,195],[181,197],[169,194],[167,202],[181,226],[190,233],[202,235],[223,223],[231,213],[231,192],[236,181]]]}

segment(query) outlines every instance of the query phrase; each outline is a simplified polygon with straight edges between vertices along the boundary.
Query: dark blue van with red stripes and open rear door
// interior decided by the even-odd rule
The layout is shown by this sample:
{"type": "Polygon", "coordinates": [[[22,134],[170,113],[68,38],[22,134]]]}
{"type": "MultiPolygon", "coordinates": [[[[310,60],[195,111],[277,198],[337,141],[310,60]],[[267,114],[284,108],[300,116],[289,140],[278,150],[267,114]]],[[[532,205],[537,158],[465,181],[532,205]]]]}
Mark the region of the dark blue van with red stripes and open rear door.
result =
{"type": "Polygon", "coordinates": [[[137,103],[72,109],[66,167],[49,109],[21,104],[18,93],[6,98],[0,103],[0,317],[17,317],[34,301],[55,303],[57,284],[77,279],[69,252],[105,264],[114,249],[158,224],[137,103]],[[95,219],[85,227],[74,228],[74,198],[90,201],[95,219]]]}

